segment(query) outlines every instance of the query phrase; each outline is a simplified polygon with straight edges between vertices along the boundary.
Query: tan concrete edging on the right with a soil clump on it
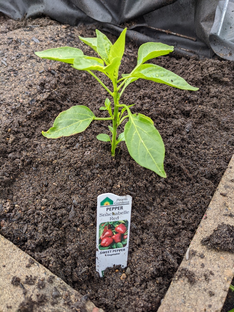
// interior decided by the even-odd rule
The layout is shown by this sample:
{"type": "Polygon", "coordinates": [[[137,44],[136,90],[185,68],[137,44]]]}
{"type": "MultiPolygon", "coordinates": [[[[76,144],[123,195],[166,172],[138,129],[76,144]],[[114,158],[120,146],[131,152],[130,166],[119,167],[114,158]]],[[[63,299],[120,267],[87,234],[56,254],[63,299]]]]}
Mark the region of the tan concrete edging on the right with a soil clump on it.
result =
{"type": "MultiPolygon", "coordinates": [[[[230,226],[229,229],[234,227],[234,155],[158,312],[221,311],[234,275],[234,255],[221,251],[218,239],[217,249],[208,249],[201,240],[208,241],[214,230],[218,234],[217,226],[222,223],[224,227],[230,226]]],[[[233,232],[230,241],[233,241],[233,232]]]]}

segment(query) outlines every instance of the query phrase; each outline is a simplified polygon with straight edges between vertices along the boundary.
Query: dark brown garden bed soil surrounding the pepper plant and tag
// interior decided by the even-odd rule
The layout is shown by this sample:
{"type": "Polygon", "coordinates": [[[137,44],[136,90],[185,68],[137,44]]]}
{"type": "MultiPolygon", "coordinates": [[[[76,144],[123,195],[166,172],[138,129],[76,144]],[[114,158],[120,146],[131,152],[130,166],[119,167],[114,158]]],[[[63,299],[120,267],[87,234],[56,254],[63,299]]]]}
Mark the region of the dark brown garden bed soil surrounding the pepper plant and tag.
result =
{"type": "MultiPolygon", "coordinates": [[[[156,311],[233,153],[233,62],[172,53],[152,62],[199,91],[145,80],[126,89],[123,103],[135,103],[163,138],[163,179],[135,163],[124,142],[111,158],[110,144],[96,139],[107,121],[72,137],[41,135],[73,105],[107,116],[99,111],[107,93],[93,77],[34,54],[69,45],[95,55],[78,39],[95,37],[95,26],[0,17],[0,31],[1,234],[106,311],[156,311]],[[120,268],[105,278],[95,271],[96,199],[106,192],[133,197],[124,280],[120,268]]],[[[120,72],[132,70],[137,49],[126,44],[120,72]]]]}

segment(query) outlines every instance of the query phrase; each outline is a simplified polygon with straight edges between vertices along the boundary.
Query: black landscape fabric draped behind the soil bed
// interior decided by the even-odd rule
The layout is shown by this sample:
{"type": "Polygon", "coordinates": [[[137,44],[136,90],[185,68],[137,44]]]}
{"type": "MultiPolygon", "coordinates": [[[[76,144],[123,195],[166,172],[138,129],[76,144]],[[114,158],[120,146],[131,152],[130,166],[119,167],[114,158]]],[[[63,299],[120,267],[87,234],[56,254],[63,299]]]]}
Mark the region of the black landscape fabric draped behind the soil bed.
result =
{"type": "Polygon", "coordinates": [[[182,55],[234,61],[234,0],[0,0],[0,12],[101,24],[115,35],[128,27],[127,37],[139,44],[162,42],[182,55]]]}

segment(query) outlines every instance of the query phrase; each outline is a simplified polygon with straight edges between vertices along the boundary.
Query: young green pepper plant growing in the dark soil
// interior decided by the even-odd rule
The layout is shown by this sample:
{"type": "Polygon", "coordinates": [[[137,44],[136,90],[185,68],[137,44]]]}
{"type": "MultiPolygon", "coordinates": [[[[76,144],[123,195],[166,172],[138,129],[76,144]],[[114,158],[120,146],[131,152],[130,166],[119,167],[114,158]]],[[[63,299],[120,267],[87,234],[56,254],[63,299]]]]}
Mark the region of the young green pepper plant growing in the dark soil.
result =
{"type": "Polygon", "coordinates": [[[165,178],[166,173],[163,168],[165,148],[158,130],[154,127],[153,120],[140,113],[133,114],[130,110],[133,105],[123,104],[120,102],[120,97],[126,87],[139,78],[184,90],[195,91],[198,88],[189,85],[183,78],[161,66],[145,64],[150,59],[173,51],[173,46],[156,42],[141,45],[138,51],[137,65],[129,74],[122,74],[122,77],[119,78],[119,66],[124,54],[126,30],[127,28],[123,30],[113,45],[97,29],[95,38],[79,37],[81,41],[97,52],[100,58],[84,55],[80,49],[69,46],[35,52],[41,58],[62,61],[71,64],[77,70],[87,71],[104,87],[112,99],[111,102],[109,98],[106,98],[105,106],[100,107],[100,110],[107,110],[110,117],[96,117],[87,106],[76,105],[61,112],[56,117],[53,127],[46,132],[42,131],[42,134],[46,138],[55,139],[80,133],[93,120],[112,120],[112,126],[108,126],[111,138],[105,133],[97,136],[100,141],[110,142],[112,157],[115,157],[115,149],[119,142],[125,141],[129,154],[139,165],[153,170],[165,178]],[[111,80],[112,90],[95,75],[95,71],[100,71],[111,80]],[[117,127],[126,118],[128,121],[124,126],[124,132],[117,137],[117,127]]]}

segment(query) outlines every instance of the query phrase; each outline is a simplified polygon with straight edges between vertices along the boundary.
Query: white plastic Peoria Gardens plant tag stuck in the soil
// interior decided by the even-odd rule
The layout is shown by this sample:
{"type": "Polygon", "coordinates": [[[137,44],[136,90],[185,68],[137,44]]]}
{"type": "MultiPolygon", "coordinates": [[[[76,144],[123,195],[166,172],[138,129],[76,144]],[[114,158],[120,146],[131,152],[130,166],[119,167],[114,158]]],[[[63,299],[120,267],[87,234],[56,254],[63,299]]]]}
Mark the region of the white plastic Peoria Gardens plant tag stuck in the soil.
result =
{"type": "Polygon", "coordinates": [[[127,266],[132,197],[101,194],[97,198],[96,271],[127,266]]]}

